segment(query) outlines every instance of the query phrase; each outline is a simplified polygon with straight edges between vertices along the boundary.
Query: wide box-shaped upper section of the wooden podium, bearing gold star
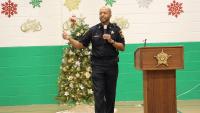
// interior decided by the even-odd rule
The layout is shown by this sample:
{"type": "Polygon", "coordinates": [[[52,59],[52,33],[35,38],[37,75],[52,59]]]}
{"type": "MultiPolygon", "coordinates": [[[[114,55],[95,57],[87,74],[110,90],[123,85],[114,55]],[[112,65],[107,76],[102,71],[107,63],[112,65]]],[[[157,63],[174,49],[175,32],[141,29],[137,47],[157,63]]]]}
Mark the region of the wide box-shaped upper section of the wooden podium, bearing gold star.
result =
{"type": "Polygon", "coordinates": [[[140,70],[172,70],[184,68],[183,46],[141,47],[134,54],[140,70]]]}

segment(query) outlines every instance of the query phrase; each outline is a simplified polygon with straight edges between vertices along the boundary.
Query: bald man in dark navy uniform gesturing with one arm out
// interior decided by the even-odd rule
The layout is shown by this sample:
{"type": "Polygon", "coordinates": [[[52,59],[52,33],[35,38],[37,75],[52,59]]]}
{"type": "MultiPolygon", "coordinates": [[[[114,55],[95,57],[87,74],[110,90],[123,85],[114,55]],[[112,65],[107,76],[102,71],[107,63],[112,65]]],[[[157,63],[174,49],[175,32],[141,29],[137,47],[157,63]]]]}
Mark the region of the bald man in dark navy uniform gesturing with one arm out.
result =
{"type": "Polygon", "coordinates": [[[125,41],[121,29],[110,23],[111,9],[103,6],[99,11],[100,23],[91,27],[81,40],[65,32],[63,38],[73,47],[81,49],[92,43],[91,67],[94,86],[95,113],[114,113],[118,78],[118,50],[124,51],[125,41]]]}

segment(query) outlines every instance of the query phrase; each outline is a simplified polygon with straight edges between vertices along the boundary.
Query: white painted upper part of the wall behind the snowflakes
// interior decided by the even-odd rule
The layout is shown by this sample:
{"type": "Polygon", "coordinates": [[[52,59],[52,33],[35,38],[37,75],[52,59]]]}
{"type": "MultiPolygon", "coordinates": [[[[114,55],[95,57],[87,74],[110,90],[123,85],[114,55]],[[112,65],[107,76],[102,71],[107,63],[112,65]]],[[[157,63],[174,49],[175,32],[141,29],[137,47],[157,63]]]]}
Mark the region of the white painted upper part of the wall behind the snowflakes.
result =
{"type": "MultiPolygon", "coordinates": [[[[105,4],[104,0],[81,0],[79,9],[69,12],[64,0],[43,0],[41,8],[32,8],[30,0],[12,1],[18,4],[18,14],[11,18],[0,14],[0,47],[63,45],[64,21],[73,14],[82,15],[93,26],[99,22],[99,8],[105,4]],[[21,32],[20,26],[27,19],[40,21],[42,31],[21,32]]],[[[183,3],[184,10],[178,18],[168,15],[167,5],[172,1],[153,0],[149,8],[140,8],[136,0],[116,0],[111,7],[112,19],[128,19],[130,26],[123,30],[126,43],[143,43],[144,38],[149,43],[200,41],[200,1],[176,0],[183,3]]]]}

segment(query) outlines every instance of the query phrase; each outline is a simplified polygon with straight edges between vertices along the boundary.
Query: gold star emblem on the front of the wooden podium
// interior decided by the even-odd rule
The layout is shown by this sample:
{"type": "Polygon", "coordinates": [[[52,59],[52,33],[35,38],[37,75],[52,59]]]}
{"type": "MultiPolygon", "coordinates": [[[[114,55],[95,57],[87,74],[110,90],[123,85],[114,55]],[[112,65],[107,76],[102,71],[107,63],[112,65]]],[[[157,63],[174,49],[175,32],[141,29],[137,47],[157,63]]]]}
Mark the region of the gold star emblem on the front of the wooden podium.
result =
{"type": "Polygon", "coordinates": [[[162,49],[162,51],[160,53],[158,53],[156,56],[154,56],[157,59],[158,64],[156,66],[159,66],[161,64],[168,66],[167,60],[169,59],[169,57],[171,57],[172,55],[168,55],[167,53],[165,53],[162,49]]]}

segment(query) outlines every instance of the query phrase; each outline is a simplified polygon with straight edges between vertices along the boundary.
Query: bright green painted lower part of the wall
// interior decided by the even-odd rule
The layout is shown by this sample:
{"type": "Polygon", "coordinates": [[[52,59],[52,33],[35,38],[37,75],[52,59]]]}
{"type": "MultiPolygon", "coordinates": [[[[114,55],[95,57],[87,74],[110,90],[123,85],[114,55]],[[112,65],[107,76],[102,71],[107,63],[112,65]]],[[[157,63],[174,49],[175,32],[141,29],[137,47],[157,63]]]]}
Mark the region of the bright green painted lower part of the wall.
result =
{"type": "MultiPolygon", "coordinates": [[[[184,46],[185,69],[177,71],[177,95],[200,84],[200,42],[147,46],[184,46]]],[[[127,44],[120,52],[117,101],[143,99],[142,71],[134,68],[134,51],[143,44],[127,44]]],[[[57,78],[64,46],[0,48],[0,105],[55,104],[57,78]]],[[[200,99],[200,86],[178,99],[200,99]]]]}

